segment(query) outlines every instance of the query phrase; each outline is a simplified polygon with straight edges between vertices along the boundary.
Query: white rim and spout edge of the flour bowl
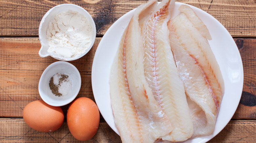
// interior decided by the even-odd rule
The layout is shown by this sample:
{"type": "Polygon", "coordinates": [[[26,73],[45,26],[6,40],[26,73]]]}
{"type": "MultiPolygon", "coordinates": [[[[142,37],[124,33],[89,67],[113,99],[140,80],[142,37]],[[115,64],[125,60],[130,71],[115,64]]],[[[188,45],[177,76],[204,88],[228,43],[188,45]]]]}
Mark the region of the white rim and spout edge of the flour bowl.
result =
{"type": "MultiPolygon", "coordinates": [[[[62,12],[64,12],[64,11],[68,11],[69,9],[65,9],[65,10],[63,10],[62,12]]],[[[75,10],[76,11],[76,10],[75,10]]],[[[78,11],[77,11],[78,12],[78,11]]],[[[61,12],[60,12],[61,13],[61,12]]],[[[79,12],[80,13],[80,12],[79,12]]],[[[84,15],[84,14],[83,14],[84,15]]],[[[96,40],[96,25],[95,25],[95,22],[94,22],[94,20],[93,20],[93,18],[92,18],[92,16],[91,16],[91,14],[87,11],[87,10],[85,10],[84,8],[82,8],[82,7],[80,7],[80,6],[78,6],[78,5],[75,5],[75,4],[60,4],[60,5],[56,5],[56,6],[54,6],[53,8],[51,8],[51,9],[49,9],[45,14],[44,14],[44,16],[43,16],[43,18],[41,19],[41,21],[40,21],[40,24],[39,24],[39,28],[38,28],[38,36],[39,36],[39,41],[40,41],[40,44],[41,44],[41,48],[40,48],[40,50],[39,50],[39,52],[38,52],[38,54],[39,54],[39,56],[41,56],[41,57],[47,57],[47,56],[51,56],[51,57],[53,57],[53,58],[55,58],[55,59],[57,59],[57,60],[61,60],[61,61],[72,61],[72,60],[76,60],[76,59],[79,59],[79,58],[81,58],[81,57],[83,57],[84,55],[86,55],[91,49],[92,49],[92,47],[93,47],[93,45],[94,45],[94,43],[95,43],[95,40],[96,40]],[[91,43],[91,45],[88,47],[88,49],[84,52],[84,53],[82,53],[81,55],[79,55],[79,56],[75,56],[75,57],[70,57],[70,58],[65,58],[65,57],[62,57],[62,56],[56,56],[55,54],[53,54],[53,52],[51,52],[51,53],[46,53],[46,54],[44,54],[44,55],[42,55],[41,54],[41,51],[44,49],[44,47],[43,47],[43,39],[46,39],[46,37],[43,37],[42,35],[41,35],[41,33],[42,33],[42,25],[45,23],[45,19],[49,16],[49,14],[53,11],[53,9],[55,9],[55,8],[58,8],[58,7],[62,7],[62,6],[71,6],[71,7],[76,7],[76,8],[80,8],[82,11],[84,11],[86,14],[87,14],[87,16],[85,16],[89,21],[90,21],[90,24],[92,25],[92,30],[93,30],[93,39],[92,39],[92,43],[91,43]]],[[[46,39],[46,41],[47,41],[47,39],[46,39]]]]}

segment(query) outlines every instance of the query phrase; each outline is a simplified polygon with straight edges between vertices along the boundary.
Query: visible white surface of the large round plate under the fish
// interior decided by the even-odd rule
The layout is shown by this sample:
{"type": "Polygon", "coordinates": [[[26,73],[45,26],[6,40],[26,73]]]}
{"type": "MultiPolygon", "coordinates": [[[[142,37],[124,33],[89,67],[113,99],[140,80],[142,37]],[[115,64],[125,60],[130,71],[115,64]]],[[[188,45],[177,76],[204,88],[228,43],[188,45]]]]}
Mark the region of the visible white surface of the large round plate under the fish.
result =
{"type": "MultiPolygon", "coordinates": [[[[172,18],[180,13],[178,8],[181,4],[175,2],[172,18]]],[[[203,143],[217,135],[234,115],[242,94],[244,73],[238,48],[224,26],[205,11],[193,6],[190,7],[202,19],[210,31],[212,40],[209,41],[209,44],[220,66],[225,85],[224,96],[214,132],[208,136],[185,141],[186,143],[203,143]]],[[[120,17],[108,29],[97,47],[92,66],[92,87],[95,101],[103,118],[118,135],[119,132],[114,122],[110,103],[110,69],[117,53],[121,36],[134,11],[135,9],[120,17]]]]}

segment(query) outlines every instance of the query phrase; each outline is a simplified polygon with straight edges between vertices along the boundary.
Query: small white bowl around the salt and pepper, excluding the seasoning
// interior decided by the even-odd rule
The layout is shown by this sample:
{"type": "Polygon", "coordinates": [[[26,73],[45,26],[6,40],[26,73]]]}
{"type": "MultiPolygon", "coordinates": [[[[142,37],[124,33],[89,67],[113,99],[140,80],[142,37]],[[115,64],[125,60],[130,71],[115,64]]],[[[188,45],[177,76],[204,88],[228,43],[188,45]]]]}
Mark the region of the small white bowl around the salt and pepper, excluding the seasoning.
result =
{"type": "Polygon", "coordinates": [[[42,100],[52,106],[63,106],[71,103],[81,88],[81,76],[74,65],[65,61],[57,61],[49,65],[41,75],[38,91],[42,100]],[[72,87],[67,95],[55,96],[50,89],[49,82],[56,73],[63,73],[71,78],[72,87]]]}

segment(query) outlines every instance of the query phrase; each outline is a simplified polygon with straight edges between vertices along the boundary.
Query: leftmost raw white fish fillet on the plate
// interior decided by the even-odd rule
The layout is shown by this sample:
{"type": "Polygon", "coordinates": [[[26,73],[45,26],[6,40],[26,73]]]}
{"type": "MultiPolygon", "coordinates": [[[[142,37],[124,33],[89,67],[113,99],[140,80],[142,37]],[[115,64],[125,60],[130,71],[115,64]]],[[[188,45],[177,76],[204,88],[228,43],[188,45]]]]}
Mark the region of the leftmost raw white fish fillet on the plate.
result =
{"type": "Polygon", "coordinates": [[[111,105],[122,142],[154,142],[172,131],[170,120],[146,83],[139,14],[150,13],[157,1],[139,6],[121,39],[110,75],[111,105]],[[145,12],[145,10],[147,12],[145,12]]]}

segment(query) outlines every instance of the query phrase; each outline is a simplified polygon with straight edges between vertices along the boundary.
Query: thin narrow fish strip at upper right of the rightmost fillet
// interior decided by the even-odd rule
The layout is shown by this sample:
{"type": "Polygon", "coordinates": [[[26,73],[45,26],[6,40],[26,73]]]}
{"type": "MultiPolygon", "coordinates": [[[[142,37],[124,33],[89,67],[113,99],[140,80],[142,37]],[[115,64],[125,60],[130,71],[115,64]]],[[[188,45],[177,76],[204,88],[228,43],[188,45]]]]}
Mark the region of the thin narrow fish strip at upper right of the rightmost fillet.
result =
{"type": "Polygon", "coordinates": [[[203,23],[203,21],[196,15],[195,11],[190,8],[187,5],[181,5],[179,7],[179,10],[181,12],[183,12],[187,18],[189,19],[189,21],[191,21],[193,23],[193,25],[195,25],[195,27],[197,28],[197,30],[201,33],[201,35],[203,37],[205,37],[208,40],[212,40],[212,37],[210,35],[209,30],[207,29],[206,25],[203,23]]]}

